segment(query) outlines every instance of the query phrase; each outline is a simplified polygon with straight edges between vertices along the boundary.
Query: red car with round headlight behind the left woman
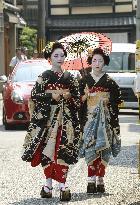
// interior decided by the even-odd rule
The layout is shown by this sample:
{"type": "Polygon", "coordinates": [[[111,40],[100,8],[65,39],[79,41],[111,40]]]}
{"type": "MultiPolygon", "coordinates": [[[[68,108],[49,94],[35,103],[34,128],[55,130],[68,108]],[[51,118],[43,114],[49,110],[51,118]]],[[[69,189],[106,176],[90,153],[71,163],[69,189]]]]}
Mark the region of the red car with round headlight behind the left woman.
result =
{"type": "Polygon", "coordinates": [[[18,63],[11,75],[0,76],[3,85],[3,125],[12,129],[14,125],[28,125],[30,121],[28,101],[31,89],[39,74],[51,65],[45,59],[26,60],[18,63]]]}

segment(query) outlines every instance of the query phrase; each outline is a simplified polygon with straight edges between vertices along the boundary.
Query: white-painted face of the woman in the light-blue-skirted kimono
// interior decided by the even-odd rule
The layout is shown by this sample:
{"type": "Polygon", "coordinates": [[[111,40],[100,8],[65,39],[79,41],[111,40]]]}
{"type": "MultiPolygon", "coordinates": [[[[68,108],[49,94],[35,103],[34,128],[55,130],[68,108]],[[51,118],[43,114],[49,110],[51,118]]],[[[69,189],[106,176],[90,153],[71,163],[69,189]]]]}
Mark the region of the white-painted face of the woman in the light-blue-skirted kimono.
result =
{"type": "Polygon", "coordinates": [[[104,67],[104,59],[103,56],[100,54],[95,54],[92,58],[92,70],[96,72],[102,71],[104,67]]]}

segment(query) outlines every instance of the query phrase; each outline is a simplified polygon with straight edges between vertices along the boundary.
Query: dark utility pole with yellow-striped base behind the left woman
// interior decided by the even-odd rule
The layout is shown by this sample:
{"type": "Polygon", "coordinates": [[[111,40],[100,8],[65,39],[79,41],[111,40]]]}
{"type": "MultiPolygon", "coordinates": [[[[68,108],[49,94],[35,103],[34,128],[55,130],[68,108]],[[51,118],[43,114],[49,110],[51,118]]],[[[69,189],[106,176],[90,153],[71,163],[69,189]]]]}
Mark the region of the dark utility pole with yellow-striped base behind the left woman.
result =
{"type": "Polygon", "coordinates": [[[46,19],[46,6],[45,0],[38,0],[38,36],[37,36],[37,47],[38,53],[41,57],[42,50],[46,43],[46,29],[45,29],[45,19],[46,19]]]}

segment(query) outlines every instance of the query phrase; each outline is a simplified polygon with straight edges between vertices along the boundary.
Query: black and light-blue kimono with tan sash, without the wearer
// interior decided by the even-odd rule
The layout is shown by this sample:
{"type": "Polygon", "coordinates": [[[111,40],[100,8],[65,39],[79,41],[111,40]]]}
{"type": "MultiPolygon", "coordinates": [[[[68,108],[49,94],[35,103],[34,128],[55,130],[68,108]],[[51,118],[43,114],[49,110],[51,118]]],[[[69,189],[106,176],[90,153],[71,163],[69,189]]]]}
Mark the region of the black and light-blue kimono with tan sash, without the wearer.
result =
{"type": "MultiPolygon", "coordinates": [[[[103,166],[98,176],[104,176],[110,155],[117,156],[120,148],[120,145],[117,147],[116,139],[120,136],[118,105],[122,102],[121,91],[106,73],[98,81],[95,81],[90,73],[85,75],[80,82],[81,96],[85,94],[85,88],[89,90],[89,97],[81,106],[80,112],[83,131],[80,155],[85,157],[88,165],[100,159],[103,166]],[[104,97],[109,99],[107,109],[102,101],[104,97]]],[[[92,172],[93,170],[91,176],[94,175],[92,172]]]]}

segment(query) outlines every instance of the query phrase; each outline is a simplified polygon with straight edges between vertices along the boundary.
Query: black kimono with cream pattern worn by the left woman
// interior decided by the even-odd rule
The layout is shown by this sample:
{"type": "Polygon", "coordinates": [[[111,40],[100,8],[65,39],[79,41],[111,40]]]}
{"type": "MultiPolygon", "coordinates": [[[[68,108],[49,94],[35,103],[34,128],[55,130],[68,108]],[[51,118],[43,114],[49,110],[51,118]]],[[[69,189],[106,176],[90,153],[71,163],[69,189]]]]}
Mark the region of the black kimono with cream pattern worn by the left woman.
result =
{"type": "MultiPolygon", "coordinates": [[[[78,161],[80,126],[78,110],[80,95],[77,80],[67,71],[61,77],[53,71],[41,74],[31,92],[34,110],[23,144],[24,161],[31,162],[40,146],[40,160],[43,168],[54,161],[57,130],[61,127],[61,142],[57,163],[74,164],[78,161]],[[53,91],[69,89],[71,97],[52,99],[53,91]]],[[[37,165],[38,165],[37,164],[37,165]]]]}

